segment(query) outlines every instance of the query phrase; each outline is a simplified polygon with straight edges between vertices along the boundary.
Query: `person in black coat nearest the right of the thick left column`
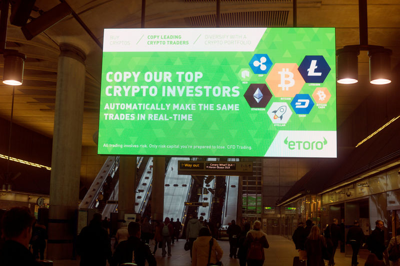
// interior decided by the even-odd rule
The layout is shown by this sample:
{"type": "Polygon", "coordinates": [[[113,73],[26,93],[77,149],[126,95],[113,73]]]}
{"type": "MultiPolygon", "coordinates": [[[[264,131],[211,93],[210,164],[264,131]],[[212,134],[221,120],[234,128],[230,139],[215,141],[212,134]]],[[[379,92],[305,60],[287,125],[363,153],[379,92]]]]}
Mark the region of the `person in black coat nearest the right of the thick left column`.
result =
{"type": "Polygon", "coordinates": [[[101,226],[101,214],[93,214],[89,225],[80,231],[76,252],[80,255],[80,266],[105,266],[111,258],[111,243],[107,230],[101,226]]]}

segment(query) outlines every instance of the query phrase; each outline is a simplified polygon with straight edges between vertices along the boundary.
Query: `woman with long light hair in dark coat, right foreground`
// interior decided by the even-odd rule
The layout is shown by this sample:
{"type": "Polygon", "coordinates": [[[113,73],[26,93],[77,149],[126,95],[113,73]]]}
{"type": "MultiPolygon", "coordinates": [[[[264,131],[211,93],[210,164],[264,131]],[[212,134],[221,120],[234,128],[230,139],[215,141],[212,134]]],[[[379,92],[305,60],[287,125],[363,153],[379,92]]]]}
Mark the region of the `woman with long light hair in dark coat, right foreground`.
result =
{"type": "Polygon", "coordinates": [[[324,266],[322,252],[325,248],[323,236],[319,228],[313,226],[308,238],[305,240],[304,249],[307,253],[307,266],[324,266]]]}

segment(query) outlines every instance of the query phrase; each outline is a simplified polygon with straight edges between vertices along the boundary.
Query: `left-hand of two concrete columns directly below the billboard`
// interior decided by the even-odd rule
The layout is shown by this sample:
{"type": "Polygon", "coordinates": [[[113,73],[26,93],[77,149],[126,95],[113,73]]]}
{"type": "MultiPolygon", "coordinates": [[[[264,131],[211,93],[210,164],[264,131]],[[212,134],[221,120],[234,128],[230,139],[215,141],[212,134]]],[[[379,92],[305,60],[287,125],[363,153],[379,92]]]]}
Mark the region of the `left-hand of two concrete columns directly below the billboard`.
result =
{"type": "Polygon", "coordinates": [[[136,187],[136,157],[119,157],[118,219],[134,213],[136,187]]]}

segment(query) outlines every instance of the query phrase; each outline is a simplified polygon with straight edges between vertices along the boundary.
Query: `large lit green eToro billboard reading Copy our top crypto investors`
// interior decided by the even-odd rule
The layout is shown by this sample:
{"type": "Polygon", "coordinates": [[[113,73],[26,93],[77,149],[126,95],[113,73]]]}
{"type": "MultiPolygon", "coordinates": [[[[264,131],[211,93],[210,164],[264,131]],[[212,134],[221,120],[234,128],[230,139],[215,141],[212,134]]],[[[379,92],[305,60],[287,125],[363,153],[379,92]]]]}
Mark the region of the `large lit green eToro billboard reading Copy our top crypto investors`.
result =
{"type": "Polygon", "coordinates": [[[334,28],[105,29],[99,154],[336,157],[334,28]]]}

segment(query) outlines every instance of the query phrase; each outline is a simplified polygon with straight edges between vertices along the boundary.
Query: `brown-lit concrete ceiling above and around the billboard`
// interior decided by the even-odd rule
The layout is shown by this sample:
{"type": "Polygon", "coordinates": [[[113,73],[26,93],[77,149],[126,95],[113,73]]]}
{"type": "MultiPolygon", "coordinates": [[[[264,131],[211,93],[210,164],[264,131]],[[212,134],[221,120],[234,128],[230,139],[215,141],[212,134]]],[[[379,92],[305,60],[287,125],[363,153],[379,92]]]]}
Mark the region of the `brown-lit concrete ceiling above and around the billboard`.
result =
{"type": "MultiPolygon", "coordinates": [[[[102,43],[104,28],[140,27],[139,0],[67,0],[68,4],[102,43]]],[[[47,11],[58,0],[36,0],[39,10],[47,11]]],[[[292,26],[292,0],[221,0],[223,26],[292,26]]],[[[400,62],[400,2],[370,0],[368,43],[392,49],[391,67],[400,62]]],[[[31,17],[39,16],[32,11],[31,17]]],[[[213,27],[215,1],[147,0],[145,27],[213,27]]],[[[297,26],[335,27],[336,49],[358,44],[358,0],[297,0],[297,26]]],[[[13,121],[23,127],[52,137],[58,45],[63,42],[80,47],[87,55],[83,146],[94,146],[93,133],[98,128],[100,100],[101,48],[69,15],[32,40],[26,40],[17,26],[8,25],[6,48],[26,54],[23,85],[15,87],[13,121]]],[[[0,58],[2,74],[3,58],[0,58]]],[[[371,90],[384,89],[369,84],[366,52],[358,57],[359,82],[337,84],[338,126],[371,90]]],[[[0,85],[0,117],[10,119],[12,87],[0,85]]]]}

